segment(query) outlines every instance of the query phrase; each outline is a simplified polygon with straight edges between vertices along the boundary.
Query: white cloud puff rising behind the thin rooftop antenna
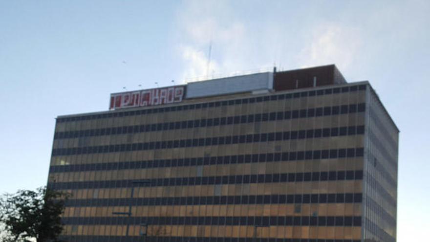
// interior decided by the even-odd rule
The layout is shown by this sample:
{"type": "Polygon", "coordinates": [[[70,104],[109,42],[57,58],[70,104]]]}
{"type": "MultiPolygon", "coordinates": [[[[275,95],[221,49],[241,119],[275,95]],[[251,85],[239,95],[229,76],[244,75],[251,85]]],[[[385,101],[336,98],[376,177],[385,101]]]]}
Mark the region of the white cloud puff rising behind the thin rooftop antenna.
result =
{"type": "Polygon", "coordinates": [[[227,1],[187,1],[178,11],[177,24],[176,49],[186,80],[246,70],[256,58],[258,39],[227,1]]]}

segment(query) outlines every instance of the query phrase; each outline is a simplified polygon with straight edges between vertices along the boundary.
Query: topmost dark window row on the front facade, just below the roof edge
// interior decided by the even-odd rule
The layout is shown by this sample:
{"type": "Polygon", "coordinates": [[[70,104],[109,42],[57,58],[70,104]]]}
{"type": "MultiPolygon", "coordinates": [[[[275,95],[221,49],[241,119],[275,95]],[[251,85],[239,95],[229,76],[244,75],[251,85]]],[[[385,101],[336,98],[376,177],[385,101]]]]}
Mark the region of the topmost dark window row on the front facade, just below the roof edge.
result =
{"type": "Polygon", "coordinates": [[[248,104],[248,103],[276,101],[276,100],[283,100],[283,99],[290,99],[290,98],[300,98],[300,97],[307,97],[307,96],[320,96],[325,94],[332,94],[332,93],[336,94],[336,93],[349,92],[349,91],[353,92],[357,90],[366,90],[366,85],[343,87],[343,88],[327,88],[327,89],[302,91],[302,92],[296,92],[296,93],[285,93],[285,94],[278,94],[278,95],[271,94],[271,95],[260,96],[260,97],[250,97],[250,98],[243,98],[243,99],[236,99],[236,100],[189,104],[189,105],[181,105],[181,106],[173,106],[173,107],[165,107],[165,108],[108,112],[103,114],[58,118],[57,122],[62,123],[62,122],[92,120],[92,119],[101,119],[101,118],[144,115],[144,114],[151,114],[151,113],[158,113],[158,112],[204,109],[204,108],[212,108],[212,107],[220,107],[220,106],[231,106],[231,105],[240,105],[240,104],[248,104]]]}

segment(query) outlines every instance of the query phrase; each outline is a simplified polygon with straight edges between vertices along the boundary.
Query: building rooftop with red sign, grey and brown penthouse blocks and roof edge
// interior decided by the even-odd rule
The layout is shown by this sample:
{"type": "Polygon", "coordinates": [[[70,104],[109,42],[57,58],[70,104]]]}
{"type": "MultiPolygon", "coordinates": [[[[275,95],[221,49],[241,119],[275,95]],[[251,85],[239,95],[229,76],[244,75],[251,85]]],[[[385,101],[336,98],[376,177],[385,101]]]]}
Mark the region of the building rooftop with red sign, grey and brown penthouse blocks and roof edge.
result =
{"type": "MultiPolygon", "coordinates": [[[[366,84],[367,81],[347,83],[342,73],[335,65],[315,66],[294,70],[272,72],[258,72],[245,75],[215,78],[184,85],[152,88],[144,90],[132,90],[110,94],[110,105],[107,111],[89,112],[81,114],[60,115],[57,118],[69,118],[77,116],[99,115],[125,110],[142,108],[170,107],[178,103],[190,104],[207,102],[217,97],[222,99],[240,99],[243,96],[261,96],[268,93],[290,93],[297,91],[319,90],[330,86],[347,87],[366,84]]],[[[371,86],[370,86],[371,87],[371,86]]],[[[370,88],[375,94],[373,88],[370,88]]],[[[379,103],[389,116],[384,105],[379,103]]],[[[392,124],[396,127],[394,121],[392,124]]]]}

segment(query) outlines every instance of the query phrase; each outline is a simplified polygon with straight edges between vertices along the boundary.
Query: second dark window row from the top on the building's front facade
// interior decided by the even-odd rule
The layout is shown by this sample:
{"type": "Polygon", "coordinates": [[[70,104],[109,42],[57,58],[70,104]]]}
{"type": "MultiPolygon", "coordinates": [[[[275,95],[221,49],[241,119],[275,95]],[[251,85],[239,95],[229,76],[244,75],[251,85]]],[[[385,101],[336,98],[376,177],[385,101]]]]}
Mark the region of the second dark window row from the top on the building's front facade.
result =
{"type": "Polygon", "coordinates": [[[318,117],[318,116],[337,115],[337,114],[345,114],[345,113],[364,112],[365,109],[366,109],[366,105],[364,103],[360,103],[360,104],[341,105],[341,106],[333,106],[333,107],[323,107],[323,108],[317,108],[317,109],[307,109],[307,110],[293,110],[293,111],[270,112],[270,113],[265,112],[265,113],[258,113],[258,114],[230,116],[230,117],[221,117],[221,118],[196,119],[196,120],[188,120],[188,121],[169,122],[169,123],[112,127],[112,128],[81,130],[81,131],[56,132],[54,134],[54,139],[139,133],[139,132],[168,131],[168,130],[192,129],[192,128],[222,126],[222,125],[231,125],[231,124],[267,122],[267,121],[285,120],[285,119],[291,119],[291,118],[294,119],[294,118],[318,117]]]}

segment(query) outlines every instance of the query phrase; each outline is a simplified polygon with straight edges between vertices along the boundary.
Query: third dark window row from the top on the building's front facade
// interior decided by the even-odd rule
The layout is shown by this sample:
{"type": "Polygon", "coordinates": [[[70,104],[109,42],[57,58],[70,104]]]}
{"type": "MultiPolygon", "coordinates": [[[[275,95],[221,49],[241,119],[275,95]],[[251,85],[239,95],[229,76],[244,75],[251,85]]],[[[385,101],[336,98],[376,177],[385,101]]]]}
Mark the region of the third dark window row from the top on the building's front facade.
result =
{"type": "MultiPolygon", "coordinates": [[[[315,130],[300,130],[287,132],[255,133],[233,136],[219,136],[196,139],[179,139],[167,141],[152,141],[132,144],[86,146],[75,148],[57,148],[52,149],[52,156],[56,155],[74,155],[74,154],[100,154],[110,152],[128,152],[128,151],[146,151],[160,149],[174,149],[186,147],[201,147],[211,145],[230,145],[257,142],[271,142],[294,140],[304,138],[336,137],[344,135],[364,134],[364,126],[336,127],[315,130]]],[[[337,158],[337,157],[334,157],[337,158]]]]}

